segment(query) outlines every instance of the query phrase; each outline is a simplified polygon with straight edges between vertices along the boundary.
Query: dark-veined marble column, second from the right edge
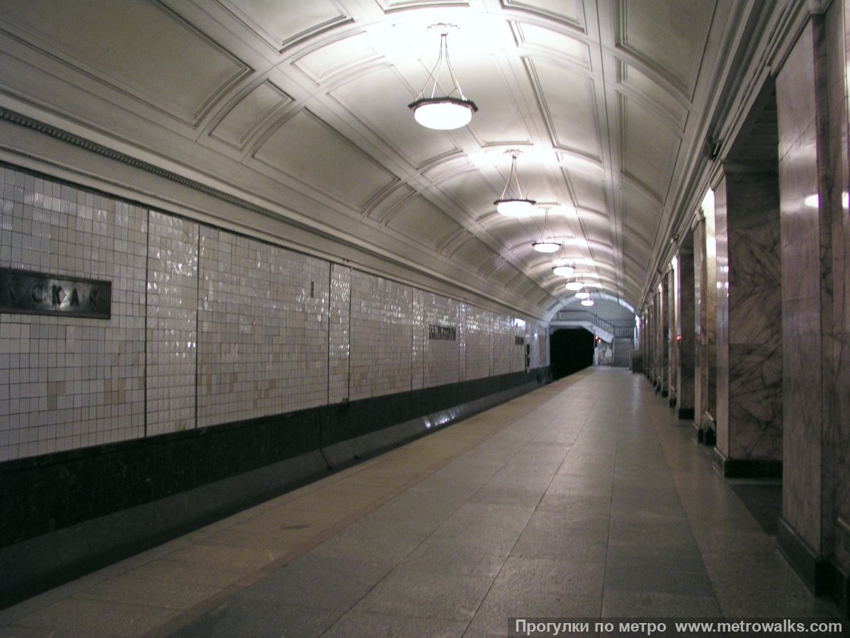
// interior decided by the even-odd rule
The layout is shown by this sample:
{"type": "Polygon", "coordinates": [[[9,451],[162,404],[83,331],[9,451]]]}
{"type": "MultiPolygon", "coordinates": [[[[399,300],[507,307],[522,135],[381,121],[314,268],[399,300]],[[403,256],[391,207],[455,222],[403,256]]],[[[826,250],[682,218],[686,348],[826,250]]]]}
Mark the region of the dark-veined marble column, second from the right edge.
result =
{"type": "Polygon", "coordinates": [[[781,476],[779,181],[724,167],[715,189],[717,447],[725,476],[781,476]]]}

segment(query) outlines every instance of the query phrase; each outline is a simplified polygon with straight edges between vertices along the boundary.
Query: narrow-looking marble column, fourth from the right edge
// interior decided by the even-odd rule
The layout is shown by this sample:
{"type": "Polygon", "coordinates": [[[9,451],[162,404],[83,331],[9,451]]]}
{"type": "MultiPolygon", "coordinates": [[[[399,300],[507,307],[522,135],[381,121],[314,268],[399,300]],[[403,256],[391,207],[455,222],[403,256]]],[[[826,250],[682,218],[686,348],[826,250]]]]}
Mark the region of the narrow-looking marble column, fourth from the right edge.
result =
{"type": "Polygon", "coordinates": [[[694,240],[689,234],[678,252],[676,405],[679,419],[694,419],[696,337],[694,317],[694,240]]]}

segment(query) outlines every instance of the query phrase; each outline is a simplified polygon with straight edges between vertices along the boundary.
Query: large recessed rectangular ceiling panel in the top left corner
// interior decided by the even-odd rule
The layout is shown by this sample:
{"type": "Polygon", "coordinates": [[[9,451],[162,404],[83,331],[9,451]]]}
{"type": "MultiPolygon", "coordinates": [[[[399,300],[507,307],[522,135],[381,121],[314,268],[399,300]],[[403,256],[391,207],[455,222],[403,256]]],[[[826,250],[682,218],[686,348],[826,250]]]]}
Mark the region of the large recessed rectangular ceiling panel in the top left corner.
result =
{"type": "Polygon", "coordinates": [[[2,17],[44,53],[190,124],[249,71],[156,2],[27,0],[4,3],[2,17]]]}

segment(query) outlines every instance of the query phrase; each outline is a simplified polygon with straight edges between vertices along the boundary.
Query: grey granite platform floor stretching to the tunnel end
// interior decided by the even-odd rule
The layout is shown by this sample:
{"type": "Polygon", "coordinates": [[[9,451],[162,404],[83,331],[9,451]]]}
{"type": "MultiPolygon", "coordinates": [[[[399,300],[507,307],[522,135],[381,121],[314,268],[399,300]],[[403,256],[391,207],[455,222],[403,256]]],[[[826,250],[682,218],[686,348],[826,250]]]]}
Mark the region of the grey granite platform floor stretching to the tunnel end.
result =
{"type": "Polygon", "coordinates": [[[9,607],[0,636],[836,617],[751,509],[643,375],[589,368],[9,607]]]}

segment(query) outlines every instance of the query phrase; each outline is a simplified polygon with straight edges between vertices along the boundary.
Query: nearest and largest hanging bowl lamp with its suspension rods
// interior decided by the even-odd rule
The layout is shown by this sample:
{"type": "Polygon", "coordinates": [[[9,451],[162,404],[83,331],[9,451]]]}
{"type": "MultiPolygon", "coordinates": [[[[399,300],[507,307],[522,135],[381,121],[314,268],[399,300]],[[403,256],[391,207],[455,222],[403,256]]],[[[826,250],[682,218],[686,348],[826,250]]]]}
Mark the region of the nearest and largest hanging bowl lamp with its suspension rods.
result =
{"type": "Polygon", "coordinates": [[[431,25],[429,29],[439,29],[439,56],[437,63],[431,69],[425,86],[407,108],[413,111],[413,117],[424,127],[437,128],[439,130],[450,130],[466,126],[473,118],[473,113],[478,111],[478,106],[472,100],[467,100],[463,94],[460,83],[457,82],[455,69],[449,60],[449,30],[456,29],[455,25],[439,23],[431,25]],[[451,79],[451,90],[448,94],[437,95],[437,83],[439,71],[443,68],[449,71],[451,79]],[[430,84],[430,88],[429,85],[430,84]]]}

